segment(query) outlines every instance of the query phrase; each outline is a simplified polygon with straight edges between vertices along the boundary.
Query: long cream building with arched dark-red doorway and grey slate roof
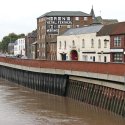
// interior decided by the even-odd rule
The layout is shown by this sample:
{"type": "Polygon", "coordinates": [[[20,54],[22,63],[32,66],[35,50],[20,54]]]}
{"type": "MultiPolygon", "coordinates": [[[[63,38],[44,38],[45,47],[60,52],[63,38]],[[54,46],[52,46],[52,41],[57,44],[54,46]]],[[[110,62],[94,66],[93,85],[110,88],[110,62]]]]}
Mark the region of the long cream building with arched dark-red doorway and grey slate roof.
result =
{"type": "Polygon", "coordinates": [[[57,37],[57,60],[110,61],[110,36],[97,36],[103,25],[69,29],[57,37]]]}

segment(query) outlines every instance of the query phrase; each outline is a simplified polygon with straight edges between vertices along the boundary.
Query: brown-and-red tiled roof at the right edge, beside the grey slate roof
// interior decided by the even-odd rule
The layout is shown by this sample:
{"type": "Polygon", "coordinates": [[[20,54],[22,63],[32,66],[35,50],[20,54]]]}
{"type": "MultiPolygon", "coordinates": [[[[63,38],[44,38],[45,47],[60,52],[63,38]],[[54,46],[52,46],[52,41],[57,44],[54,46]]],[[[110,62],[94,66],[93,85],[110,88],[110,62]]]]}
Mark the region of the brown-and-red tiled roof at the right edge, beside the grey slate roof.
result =
{"type": "Polygon", "coordinates": [[[97,36],[125,34],[125,22],[104,25],[97,36]]]}

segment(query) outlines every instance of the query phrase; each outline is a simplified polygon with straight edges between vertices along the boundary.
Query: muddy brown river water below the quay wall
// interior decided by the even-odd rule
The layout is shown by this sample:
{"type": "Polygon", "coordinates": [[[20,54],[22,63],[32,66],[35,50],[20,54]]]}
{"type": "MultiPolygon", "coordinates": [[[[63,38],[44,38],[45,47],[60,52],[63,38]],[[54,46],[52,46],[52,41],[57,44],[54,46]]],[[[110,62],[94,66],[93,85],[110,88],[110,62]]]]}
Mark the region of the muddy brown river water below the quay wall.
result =
{"type": "Polygon", "coordinates": [[[0,125],[125,125],[125,118],[0,79],[0,125]]]}

